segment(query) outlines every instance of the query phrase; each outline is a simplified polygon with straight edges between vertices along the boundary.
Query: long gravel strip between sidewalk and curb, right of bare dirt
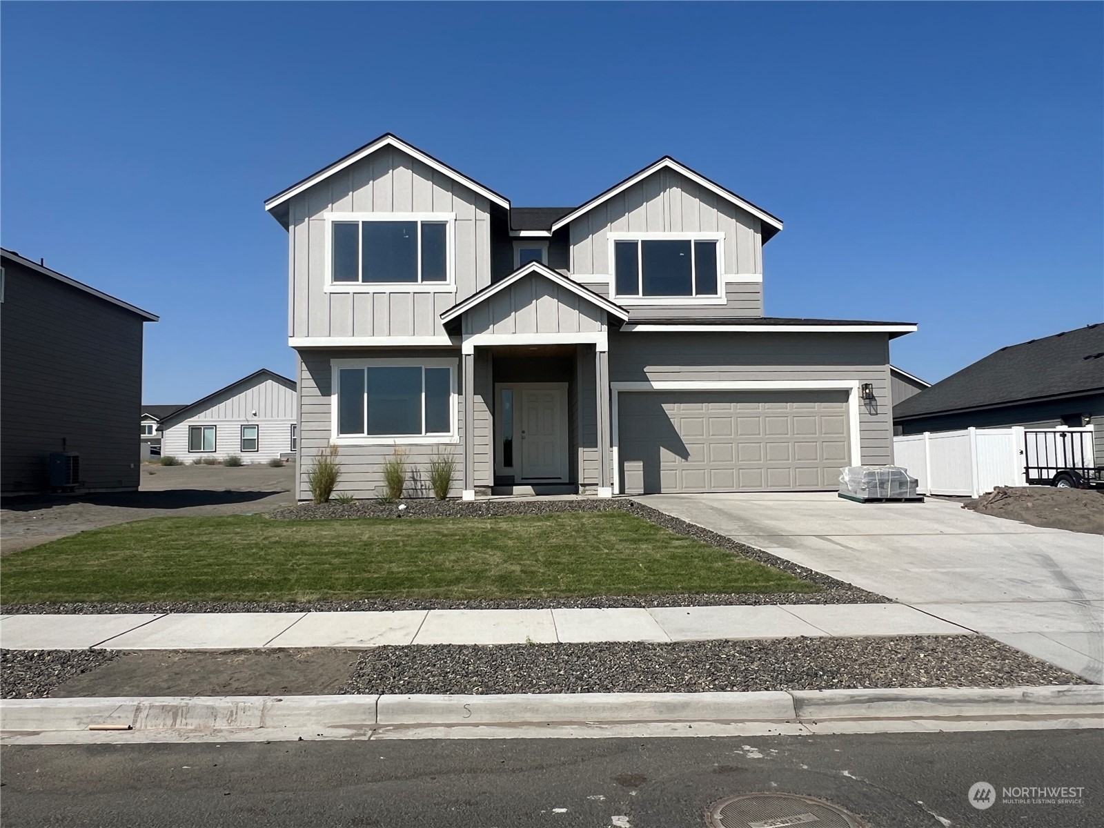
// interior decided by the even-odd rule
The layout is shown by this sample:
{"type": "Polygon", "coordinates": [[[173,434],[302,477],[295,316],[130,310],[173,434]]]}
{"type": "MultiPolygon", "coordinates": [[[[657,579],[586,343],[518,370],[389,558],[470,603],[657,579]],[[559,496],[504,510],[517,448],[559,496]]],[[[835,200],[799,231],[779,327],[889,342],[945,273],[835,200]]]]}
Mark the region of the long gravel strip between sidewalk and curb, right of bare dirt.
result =
{"type": "Polygon", "coordinates": [[[580,693],[1090,683],[981,636],[378,647],[344,693],[580,693]]]}

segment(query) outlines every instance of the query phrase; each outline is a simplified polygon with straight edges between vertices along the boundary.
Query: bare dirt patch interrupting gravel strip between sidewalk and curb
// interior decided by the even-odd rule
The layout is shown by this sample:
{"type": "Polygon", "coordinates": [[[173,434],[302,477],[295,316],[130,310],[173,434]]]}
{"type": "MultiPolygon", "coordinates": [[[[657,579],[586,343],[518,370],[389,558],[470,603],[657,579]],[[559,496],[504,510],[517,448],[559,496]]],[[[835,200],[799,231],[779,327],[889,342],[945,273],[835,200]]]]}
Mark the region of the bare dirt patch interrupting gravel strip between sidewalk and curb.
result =
{"type": "Polygon", "coordinates": [[[329,696],[349,682],[359,655],[342,649],[138,650],[61,682],[50,696],[329,696]]]}

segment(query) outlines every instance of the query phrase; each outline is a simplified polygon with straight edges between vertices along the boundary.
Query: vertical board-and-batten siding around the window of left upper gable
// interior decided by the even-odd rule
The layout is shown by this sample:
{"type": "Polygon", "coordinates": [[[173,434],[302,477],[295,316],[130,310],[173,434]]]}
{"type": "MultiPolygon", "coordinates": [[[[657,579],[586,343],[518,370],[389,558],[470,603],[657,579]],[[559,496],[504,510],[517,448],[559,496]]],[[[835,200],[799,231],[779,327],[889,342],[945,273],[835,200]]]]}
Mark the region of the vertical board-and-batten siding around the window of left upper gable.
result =
{"type": "Polygon", "coordinates": [[[489,227],[486,198],[391,147],[330,176],[290,202],[289,335],[444,337],[438,315],[490,284],[489,227]],[[330,212],[456,213],[455,289],[326,293],[330,212]]]}

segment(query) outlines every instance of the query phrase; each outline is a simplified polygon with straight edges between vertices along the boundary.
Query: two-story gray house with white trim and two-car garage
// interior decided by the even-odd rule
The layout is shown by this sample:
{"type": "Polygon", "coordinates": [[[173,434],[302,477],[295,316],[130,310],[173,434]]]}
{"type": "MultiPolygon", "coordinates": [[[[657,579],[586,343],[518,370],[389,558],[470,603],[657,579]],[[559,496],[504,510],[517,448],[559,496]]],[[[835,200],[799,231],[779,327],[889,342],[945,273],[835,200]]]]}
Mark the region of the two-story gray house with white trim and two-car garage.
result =
{"type": "MultiPolygon", "coordinates": [[[[911,322],[763,316],[782,222],[671,158],[575,208],[502,195],[385,135],[274,195],[289,234],[298,497],[396,448],[454,493],[832,489],[892,457],[911,322]]],[[[864,289],[856,285],[856,290],[864,289]]]]}

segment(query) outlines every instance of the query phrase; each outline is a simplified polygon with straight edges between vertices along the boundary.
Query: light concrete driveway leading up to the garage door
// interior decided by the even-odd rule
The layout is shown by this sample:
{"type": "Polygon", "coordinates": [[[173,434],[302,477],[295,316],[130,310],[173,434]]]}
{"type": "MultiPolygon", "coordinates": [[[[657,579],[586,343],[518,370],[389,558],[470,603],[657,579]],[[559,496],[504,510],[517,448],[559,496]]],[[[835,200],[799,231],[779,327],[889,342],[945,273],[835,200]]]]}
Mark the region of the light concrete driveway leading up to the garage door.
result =
{"type": "Polygon", "coordinates": [[[1104,683],[1104,539],[928,499],[649,495],[654,509],[968,627],[1104,683]]]}

